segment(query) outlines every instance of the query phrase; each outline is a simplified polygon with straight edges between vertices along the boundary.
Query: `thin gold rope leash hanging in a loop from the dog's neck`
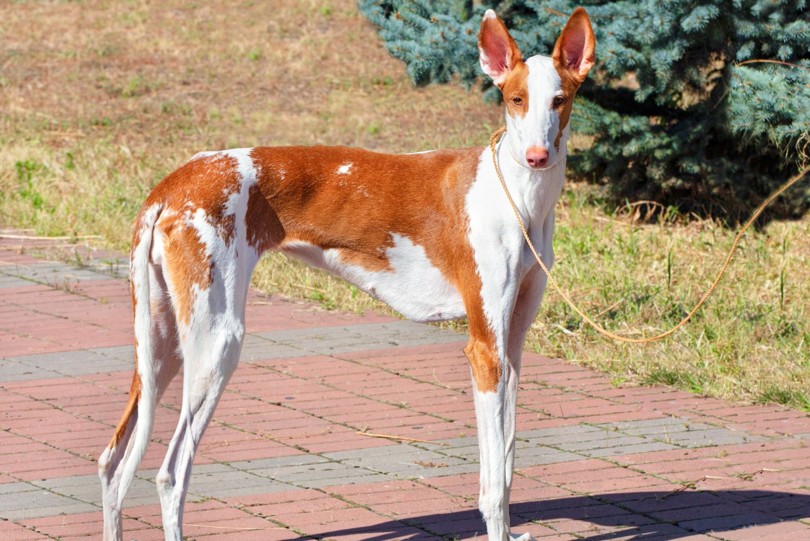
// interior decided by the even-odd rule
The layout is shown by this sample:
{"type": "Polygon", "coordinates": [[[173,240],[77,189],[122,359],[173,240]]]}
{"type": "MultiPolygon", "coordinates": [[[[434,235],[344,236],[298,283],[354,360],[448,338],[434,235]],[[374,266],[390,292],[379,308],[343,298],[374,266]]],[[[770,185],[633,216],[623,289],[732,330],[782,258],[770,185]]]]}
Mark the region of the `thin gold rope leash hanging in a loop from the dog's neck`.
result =
{"type": "Polygon", "coordinates": [[[706,302],[706,299],[708,299],[711,296],[712,292],[714,292],[714,288],[717,287],[717,284],[720,283],[720,279],[723,278],[723,274],[725,274],[726,269],[728,267],[728,262],[731,261],[731,256],[734,255],[734,250],[737,248],[737,245],[740,243],[740,238],[742,238],[743,233],[745,232],[745,230],[748,229],[748,227],[751,224],[753,224],[754,220],[757,219],[757,217],[759,215],[761,215],[762,211],[765,210],[765,207],[767,207],[770,204],[771,201],[773,201],[775,198],[777,198],[779,196],[779,194],[782,194],[782,192],[784,192],[785,190],[790,188],[791,185],[794,185],[796,182],[799,181],[799,179],[801,179],[802,177],[804,177],[804,175],[806,175],[808,172],[810,172],[810,166],[802,169],[802,171],[799,172],[798,175],[795,175],[795,177],[791,177],[791,179],[789,181],[787,181],[784,185],[782,185],[781,188],[776,190],[773,194],[770,194],[770,197],[765,199],[765,201],[762,202],[762,204],[757,208],[757,210],[754,211],[751,218],[749,218],[748,221],[745,222],[745,225],[743,226],[743,228],[740,229],[739,233],[737,233],[737,236],[734,239],[734,244],[731,245],[731,249],[728,251],[728,255],[726,256],[726,261],[723,262],[723,266],[720,268],[720,272],[718,273],[717,278],[714,279],[714,283],[711,284],[709,290],[701,297],[700,302],[698,302],[697,305],[695,305],[695,307],[692,309],[691,312],[689,312],[689,314],[686,317],[684,317],[682,320],[680,320],[680,322],[678,322],[678,324],[676,326],[672,327],[670,330],[667,330],[667,332],[665,332],[665,333],[657,334],[655,336],[650,336],[650,338],[631,339],[631,338],[627,338],[626,336],[621,336],[620,334],[612,333],[611,331],[603,328],[602,326],[599,326],[599,324],[594,322],[594,320],[590,319],[590,317],[586,316],[585,313],[582,312],[582,310],[579,309],[579,307],[577,305],[573,304],[573,301],[562,290],[562,288],[560,287],[560,284],[557,283],[556,279],[554,279],[554,277],[552,276],[552,273],[548,271],[548,268],[546,268],[546,265],[543,262],[543,260],[540,259],[540,256],[537,254],[537,250],[535,250],[535,245],[531,244],[531,239],[529,238],[529,234],[526,232],[526,227],[524,227],[524,225],[523,225],[523,220],[520,219],[520,215],[518,214],[518,208],[515,207],[514,200],[512,199],[512,196],[509,195],[509,190],[506,188],[506,183],[504,182],[504,177],[503,177],[503,175],[501,175],[501,168],[498,167],[498,160],[497,160],[497,156],[495,154],[495,143],[497,143],[498,137],[501,134],[505,133],[505,131],[506,131],[506,126],[501,126],[494,134],[492,134],[489,137],[489,148],[492,150],[492,164],[495,165],[495,173],[498,174],[498,180],[501,181],[501,186],[504,189],[504,192],[506,194],[506,198],[509,199],[509,205],[512,206],[512,211],[514,212],[514,217],[516,219],[518,219],[518,225],[520,225],[520,230],[523,232],[523,237],[526,239],[527,243],[529,243],[529,248],[531,249],[531,253],[535,254],[535,258],[537,259],[537,262],[540,264],[540,268],[542,268],[543,272],[546,273],[546,276],[548,276],[548,280],[552,283],[552,286],[554,286],[554,289],[556,289],[556,292],[560,293],[562,298],[565,299],[565,302],[567,302],[569,304],[569,306],[571,308],[573,308],[573,310],[576,313],[578,313],[580,315],[580,317],[582,317],[582,319],[584,319],[594,329],[598,330],[600,333],[604,334],[605,336],[608,336],[609,338],[612,338],[614,340],[619,340],[620,342],[629,342],[629,343],[654,342],[655,340],[660,340],[660,339],[666,338],[670,334],[674,333],[676,330],[680,329],[680,327],[684,326],[684,324],[686,322],[688,322],[690,319],[692,319],[692,316],[695,315],[695,313],[697,313],[697,310],[701,308],[701,306],[703,305],[704,302],[706,302]]]}

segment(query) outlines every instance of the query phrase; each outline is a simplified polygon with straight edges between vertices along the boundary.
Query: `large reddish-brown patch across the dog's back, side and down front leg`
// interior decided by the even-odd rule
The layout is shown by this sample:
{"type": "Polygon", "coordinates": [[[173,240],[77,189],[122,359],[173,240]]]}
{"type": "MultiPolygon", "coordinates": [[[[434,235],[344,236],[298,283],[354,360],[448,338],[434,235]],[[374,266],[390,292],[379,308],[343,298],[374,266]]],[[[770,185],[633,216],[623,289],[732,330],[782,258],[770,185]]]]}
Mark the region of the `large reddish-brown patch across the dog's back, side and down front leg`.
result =
{"type": "Polygon", "coordinates": [[[471,350],[471,364],[482,375],[480,388],[494,390],[501,363],[484,315],[465,208],[482,151],[388,155],[347,147],[255,148],[258,187],[270,208],[261,220],[251,219],[249,230],[277,231],[278,220],[281,249],[294,241],[337,249],[343,262],[369,271],[390,270],[386,249],[394,245],[393,234],[422,246],[461,293],[471,339],[480,344],[471,350]],[[349,173],[336,173],[348,163],[349,173]]]}

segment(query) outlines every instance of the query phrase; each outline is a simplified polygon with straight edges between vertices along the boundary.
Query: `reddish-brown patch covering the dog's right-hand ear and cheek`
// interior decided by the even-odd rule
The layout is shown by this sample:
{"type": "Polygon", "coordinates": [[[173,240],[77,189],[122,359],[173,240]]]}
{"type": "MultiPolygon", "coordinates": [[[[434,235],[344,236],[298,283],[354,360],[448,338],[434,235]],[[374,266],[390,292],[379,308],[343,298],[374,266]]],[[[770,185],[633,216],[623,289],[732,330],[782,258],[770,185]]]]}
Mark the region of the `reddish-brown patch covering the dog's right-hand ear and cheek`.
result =
{"type": "Polygon", "coordinates": [[[582,7],[573,11],[565,23],[554,45],[552,59],[557,74],[562,81],[562,91],[565,93],[565,102],[558,109],[560,115],[560,131],[554,139],[554,146],[560,147],[560,138],[565,126],[568,126],[573,98],[579,86],[588,75],[590,67],[595,62],[596,38],[590,26],[590,19],[582,7]]]}

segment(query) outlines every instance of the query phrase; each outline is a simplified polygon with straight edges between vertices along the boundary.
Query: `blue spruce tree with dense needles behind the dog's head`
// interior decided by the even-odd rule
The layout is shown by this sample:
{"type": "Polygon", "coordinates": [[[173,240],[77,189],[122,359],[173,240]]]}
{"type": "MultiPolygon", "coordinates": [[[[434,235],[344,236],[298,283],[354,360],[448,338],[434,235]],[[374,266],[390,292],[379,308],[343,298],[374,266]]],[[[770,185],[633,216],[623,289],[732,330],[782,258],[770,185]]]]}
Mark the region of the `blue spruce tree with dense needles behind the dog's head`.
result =
{"type": "MultiPolygon", "coordinates": [[[[524,54],[550,55],[578,5],[597,63],[574,106],[572,129],[594,138],[569,158],[574,173],[608,182],[620,200],[734,221],[808,160],[805,0],[360,0],[360,11],[415,83],[480,85],[497,100],[478,66],[484,10],[501,15],[524,54]]],[[[799,185],[771,215],[808,207],[799,185]]]]}

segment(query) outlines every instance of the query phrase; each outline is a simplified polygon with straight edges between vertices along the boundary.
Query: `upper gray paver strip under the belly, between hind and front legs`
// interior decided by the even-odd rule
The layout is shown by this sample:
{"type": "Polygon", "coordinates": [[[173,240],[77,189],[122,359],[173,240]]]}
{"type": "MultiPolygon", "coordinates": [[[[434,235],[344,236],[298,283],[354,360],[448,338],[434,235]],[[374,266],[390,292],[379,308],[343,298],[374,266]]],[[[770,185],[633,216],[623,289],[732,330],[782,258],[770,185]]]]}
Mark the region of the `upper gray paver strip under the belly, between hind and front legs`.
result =
{"type": "Polygon", "coordinates": [[[406,321],[272,331],[258,336],[320,355],[465,340],[452,330],[406,321]]]}

